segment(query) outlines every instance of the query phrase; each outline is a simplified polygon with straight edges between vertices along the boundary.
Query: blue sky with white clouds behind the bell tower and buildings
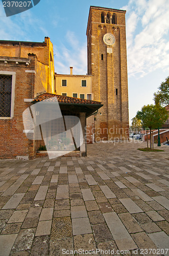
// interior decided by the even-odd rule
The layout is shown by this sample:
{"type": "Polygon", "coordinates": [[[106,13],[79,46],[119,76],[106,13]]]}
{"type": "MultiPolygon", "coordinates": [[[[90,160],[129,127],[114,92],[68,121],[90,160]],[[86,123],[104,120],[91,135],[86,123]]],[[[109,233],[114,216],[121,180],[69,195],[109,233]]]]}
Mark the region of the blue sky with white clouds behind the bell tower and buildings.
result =
{"type": "MultiPolygon", "coordinates": [[[[55,72],[87,74],[87,22],[90,6],[126,10],[129,121],[169,76],[168,0],[41,0],[6,17],[0,0],[0,40],[51,39],[55,72]]],[[[0,53],[1,55],[1,53],[0,53]]]]}

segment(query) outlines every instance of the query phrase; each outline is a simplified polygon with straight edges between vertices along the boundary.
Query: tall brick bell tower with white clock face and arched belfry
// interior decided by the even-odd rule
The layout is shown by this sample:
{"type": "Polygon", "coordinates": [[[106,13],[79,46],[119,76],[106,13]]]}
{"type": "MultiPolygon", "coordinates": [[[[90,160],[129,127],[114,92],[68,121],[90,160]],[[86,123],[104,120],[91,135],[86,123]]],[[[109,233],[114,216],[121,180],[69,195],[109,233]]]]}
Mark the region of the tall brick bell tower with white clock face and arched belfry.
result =
{"type": "Polygon", "coordinates": [[[88,75],[93,75],[93,100],[104,104],[96,115],[96,141],[126,140],[129,136],[125,13],[90,7],[88,75]]]}

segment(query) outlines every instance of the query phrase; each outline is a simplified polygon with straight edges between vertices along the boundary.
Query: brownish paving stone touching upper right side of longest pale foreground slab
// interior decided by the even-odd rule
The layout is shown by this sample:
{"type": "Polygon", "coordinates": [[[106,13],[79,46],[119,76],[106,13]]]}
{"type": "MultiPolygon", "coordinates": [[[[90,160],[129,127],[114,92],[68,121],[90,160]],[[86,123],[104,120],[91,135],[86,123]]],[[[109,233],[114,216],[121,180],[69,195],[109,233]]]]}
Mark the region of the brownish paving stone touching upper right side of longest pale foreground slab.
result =
{"type": "Polygon", "coordinates": [[[129,212],[126,212],[124,214],[119,214],[119,217],[125,227],[127,228],[129,233],[137,233],[142,232],[143,229],[137,224],[135,219],[129,214],[129,212]]]}

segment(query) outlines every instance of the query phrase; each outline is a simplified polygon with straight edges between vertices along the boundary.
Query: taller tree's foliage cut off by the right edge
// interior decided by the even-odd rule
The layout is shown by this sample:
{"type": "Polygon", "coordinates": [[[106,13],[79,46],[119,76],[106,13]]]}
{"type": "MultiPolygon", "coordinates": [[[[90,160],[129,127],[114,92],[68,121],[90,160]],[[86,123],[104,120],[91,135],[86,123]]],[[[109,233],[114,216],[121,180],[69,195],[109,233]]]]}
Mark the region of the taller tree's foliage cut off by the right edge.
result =
{"type": "Polygon", "coordinates": [[[156,105],[166,106],[169,104],[169,76],[161,83],[158,92],[154,93],[156,105]]]}

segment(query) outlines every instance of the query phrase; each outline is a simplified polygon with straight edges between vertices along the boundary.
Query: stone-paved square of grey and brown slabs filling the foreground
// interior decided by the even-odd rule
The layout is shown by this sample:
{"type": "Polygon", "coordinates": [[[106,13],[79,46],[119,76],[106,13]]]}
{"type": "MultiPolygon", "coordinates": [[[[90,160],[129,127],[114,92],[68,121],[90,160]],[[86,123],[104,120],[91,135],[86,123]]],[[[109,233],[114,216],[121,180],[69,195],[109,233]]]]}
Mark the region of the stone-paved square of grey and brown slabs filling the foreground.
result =
{"type": "Polygon", "coordinates": [[[0,160],[0,255],[169,255],[169,147],[138,147],[0,160]]]}

